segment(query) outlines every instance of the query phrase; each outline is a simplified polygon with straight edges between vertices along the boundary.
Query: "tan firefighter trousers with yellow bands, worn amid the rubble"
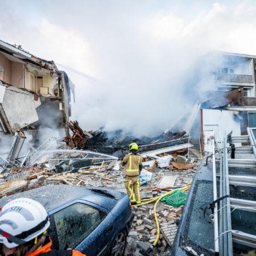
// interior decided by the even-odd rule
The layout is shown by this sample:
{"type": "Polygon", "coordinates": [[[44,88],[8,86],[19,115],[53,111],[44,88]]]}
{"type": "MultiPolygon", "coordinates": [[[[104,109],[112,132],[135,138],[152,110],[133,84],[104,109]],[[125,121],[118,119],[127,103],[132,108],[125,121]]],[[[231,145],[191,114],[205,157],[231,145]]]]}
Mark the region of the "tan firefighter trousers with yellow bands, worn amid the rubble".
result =
{"type": "Polygon", "coordinates": [[[131,203],[141,204],[141,193],[139,192],[139,186],[141,182],[138,176],[125,176],[125,188],[127,190],[127,194],[130,197],[131,192],[133,191],[133,196],[131,196],[131,203]]]}

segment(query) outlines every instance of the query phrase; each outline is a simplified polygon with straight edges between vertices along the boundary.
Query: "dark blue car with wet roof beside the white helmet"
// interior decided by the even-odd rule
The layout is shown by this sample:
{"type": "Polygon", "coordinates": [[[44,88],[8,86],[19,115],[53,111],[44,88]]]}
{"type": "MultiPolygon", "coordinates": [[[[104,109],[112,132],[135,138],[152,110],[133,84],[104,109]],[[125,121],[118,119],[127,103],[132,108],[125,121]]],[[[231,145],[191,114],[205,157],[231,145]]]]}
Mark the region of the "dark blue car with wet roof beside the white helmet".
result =
{"type": "Polygon", "coordinates": [[[46,208],[52,249],[76,249],[86,256],[124,254],[133,222],[130,199],[122,192],[97,187],[49,185],[0,199],[0,207],[20,197],[46,208]]]}

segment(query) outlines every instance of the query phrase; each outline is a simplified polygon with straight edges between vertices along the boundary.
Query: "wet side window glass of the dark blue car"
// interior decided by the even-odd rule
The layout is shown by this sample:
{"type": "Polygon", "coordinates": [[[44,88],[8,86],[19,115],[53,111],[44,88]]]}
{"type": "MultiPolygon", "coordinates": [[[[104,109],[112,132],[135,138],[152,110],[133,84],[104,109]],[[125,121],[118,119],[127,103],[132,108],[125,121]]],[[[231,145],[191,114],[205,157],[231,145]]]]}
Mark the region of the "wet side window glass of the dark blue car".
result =
{"type": "Polygon", "coordinates": [[[53,214],[60,250],[75,248],[106,216],[86,204],[76,203],[53,214]]]}

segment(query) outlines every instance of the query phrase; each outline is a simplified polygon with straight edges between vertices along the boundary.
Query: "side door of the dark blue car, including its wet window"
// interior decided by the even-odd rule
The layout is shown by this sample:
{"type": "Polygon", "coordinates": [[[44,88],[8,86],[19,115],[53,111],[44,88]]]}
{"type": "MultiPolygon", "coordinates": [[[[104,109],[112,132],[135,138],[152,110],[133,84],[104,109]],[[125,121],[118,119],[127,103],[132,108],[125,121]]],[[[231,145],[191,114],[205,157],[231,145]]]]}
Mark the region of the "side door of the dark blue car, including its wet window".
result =
{"type": "Polygon", "coordinates": [[[51,213],[60,250],[76,249],[86,256],[106,255],[113,236],[113,216],[94,203],[75,200],[51,213]]]}

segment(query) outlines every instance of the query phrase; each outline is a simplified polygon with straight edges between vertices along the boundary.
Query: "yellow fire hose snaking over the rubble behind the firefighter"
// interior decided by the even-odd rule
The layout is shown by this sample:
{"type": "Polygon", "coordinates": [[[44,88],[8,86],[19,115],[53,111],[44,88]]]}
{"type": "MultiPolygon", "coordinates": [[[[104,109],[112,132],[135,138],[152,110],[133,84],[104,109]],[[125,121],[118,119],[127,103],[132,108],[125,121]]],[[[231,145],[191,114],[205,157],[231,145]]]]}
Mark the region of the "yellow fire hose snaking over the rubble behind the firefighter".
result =
{"type": "MultiPolygon", "coordinates": [[[[155,207],[154,207],[154,216],[155,216],[155,222],[156,222],[156,226],[158,228],[158,234],[156,235],[156,238],[155,238],[155,242],[153,243],[154,246],[156,246],[156,243],[158,243],[158,240],[159,240],[159,236],[160,236],[160,227],[159,227],[159,222],[158,222],[158,218],[156,216],[156,205],[159,203],[159,201],[165,197],[165,196],[168,196],[168,195],[171,195],[171,193],[173,193],[174,191],[176,190],[180,190],[180,191],[186,191],[190,188],[189,184],[191,184],[192,181],[189,181],[189,183],[187,184],[186,187],[184,188],[177,188],[177,189],[174,189],[172,191],[169,191],[169,192],[166,192],[164,195],[162,196],[158,196],[158,197],[154,197],[153,199],[143,199],[142,201],[146,201],[146,203],[142,203],[142,204],[137,204],[137,205],[132,205],[132,207],[138,207],[138,206],[141,206],[141,205],[144,205],[144,204],[150,204],[150,203],[153,203],[154,201],[156,201],[155,203],[155,207]]],[[[131,196],[133,196],[133,187],[131,188],[131,196]]],[[[131,196],[130,196],[130,199],[131,199],[131,196]]]]}

